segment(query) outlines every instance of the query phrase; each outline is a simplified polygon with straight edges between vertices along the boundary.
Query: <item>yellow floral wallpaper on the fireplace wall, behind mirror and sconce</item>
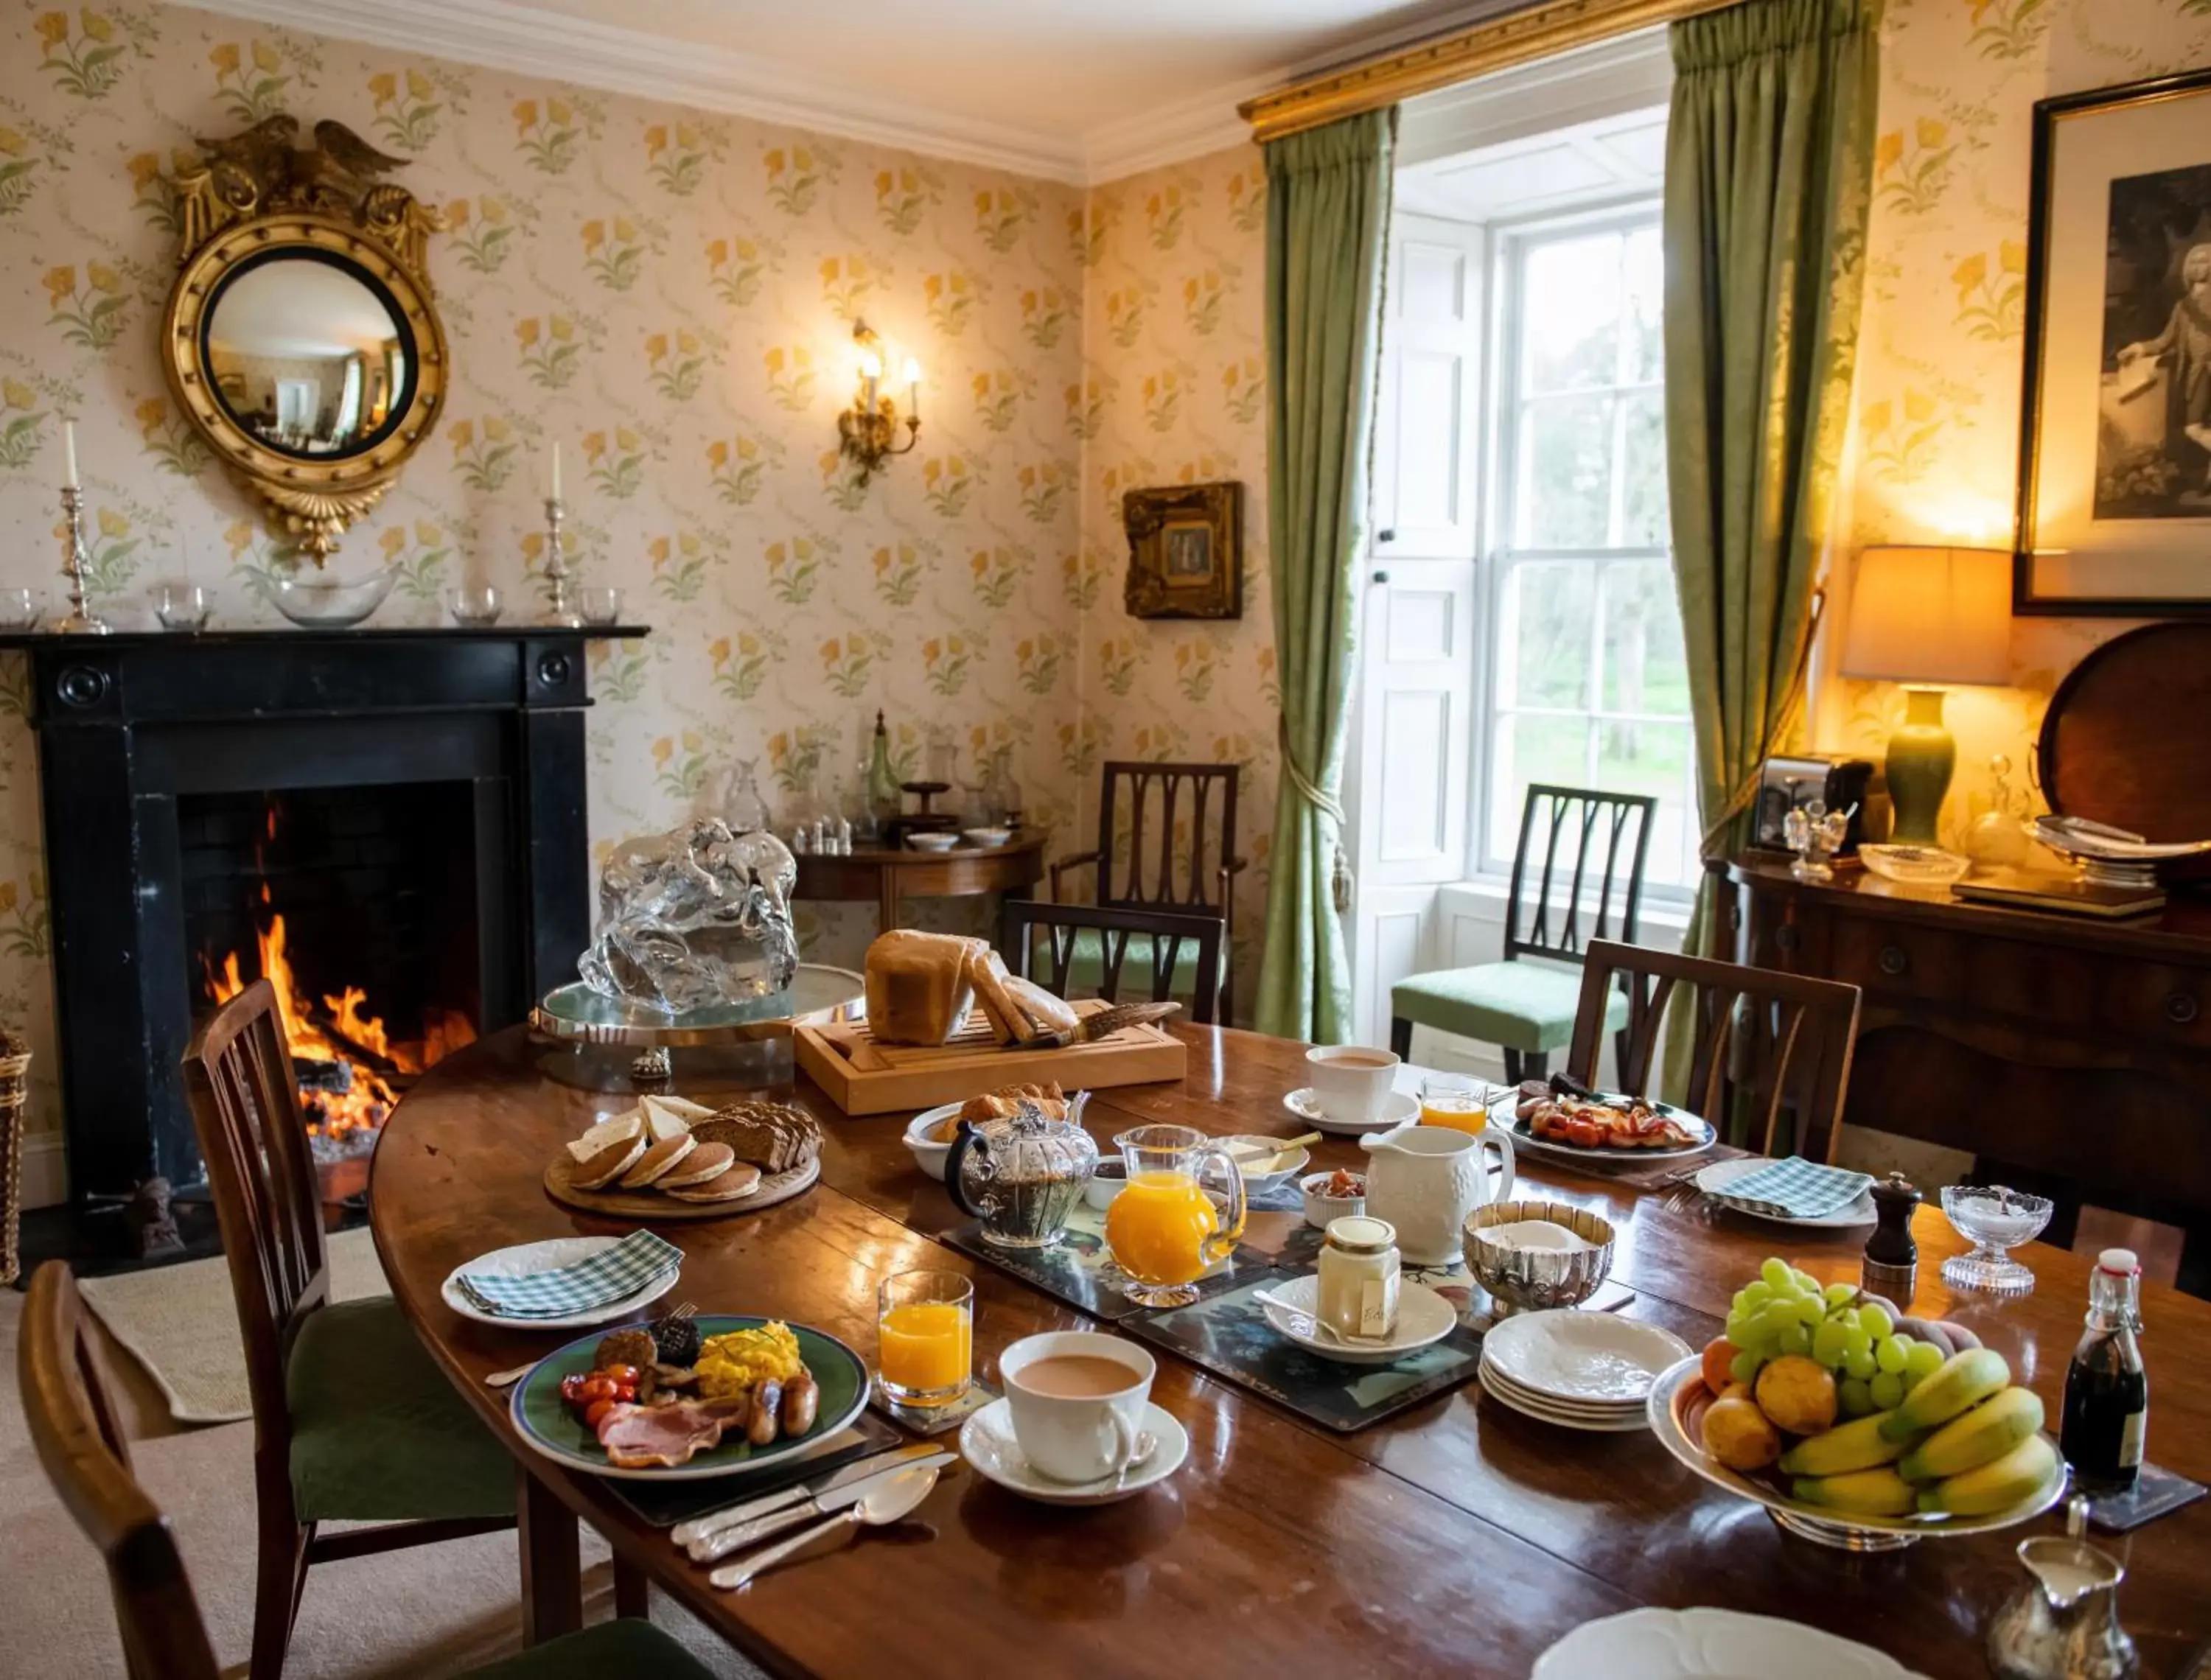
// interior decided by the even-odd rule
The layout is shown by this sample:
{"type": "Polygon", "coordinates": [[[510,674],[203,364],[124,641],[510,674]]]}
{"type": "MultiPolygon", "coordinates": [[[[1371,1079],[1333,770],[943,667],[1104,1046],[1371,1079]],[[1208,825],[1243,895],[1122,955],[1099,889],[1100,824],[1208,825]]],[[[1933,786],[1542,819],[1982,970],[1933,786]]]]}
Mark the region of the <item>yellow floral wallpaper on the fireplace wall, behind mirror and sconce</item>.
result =
{"type": "MultiPolygon", "coordinates": [[[[1068,186],[135,0],[0,0],[0,515],[24,537],[0,584],[60,601],[46,533],[75,416],[102,610],[153,628],[148,586],[190,575],[217,588],[219,623],[274,623],[252,579],[279,546],[179,420],[153,354],[175,263],[168,175],[195,135],[274,111],[336,117],[413,157],[398,179],[449,223],[431,270],[453,389],[438,435],[332,564],[398,568],[376,623],[433,623],[440,592],[478,577],[509,612],[535,606],[546,453],[564,444],[573,561],[652,626],[590,650],[597,844],[719,798],[734,758],[758,760],[772,805],[809,778],[831,794],[878,705],[904,767],[942,725],[962,776],[1004,760],[1028,809],[1077,833],[1094,756],[1083,648],[1119,610],[1112,544],[1079,535],[1086,444],[1112,435],[1123,473],[1256,451],[1256,431],[1216,413],[1232,336],[1218,318],[1245,309],[1254,279],[1203,254],[1225,181],[1172,188],[1192,197],[1167,223],[1128,199],[1128,228],[1099,237],[1068,186]],[[1148,259],[1172,279],[1139,281],[1148,259]],[[1114,345],[1090,371],[1083,287],[1101,263],[1172,314],[1172,334],[1114,345]],[[1212,325],[1181,298],[1185,270],[1225,298],[1212,325]],[[834,420],[862,316],[926,378],[918,451],[869,486],[840,466],[834,420]],[[1123,427],[1123,393],[1201,376],[1187,420],[1141,398],[1123,427]]],[[[1262,626],[1260,601],[1249,648],[1262,626]]],[[[1251,674],[1243,639],[1174,641],[1227,685],[1251,674]]],[[[1150,672],[1117,681],[1152,692],[1150,672]]],[[[0,661],[0,1019],[31,1030],[35,1125],[53,1127],[24,699],[22,661],[0,661]]],[[[1099,745],[1163,743],[1172,710],[1101,718],[1099,745]]],[[[1209,752],[1196,712],[1183,725],[1209,752]]],[[[825,959],[858,959],[873,933],[873,906],[800,909],[825,959]]]]}

